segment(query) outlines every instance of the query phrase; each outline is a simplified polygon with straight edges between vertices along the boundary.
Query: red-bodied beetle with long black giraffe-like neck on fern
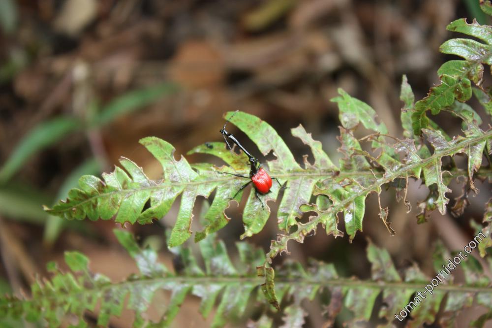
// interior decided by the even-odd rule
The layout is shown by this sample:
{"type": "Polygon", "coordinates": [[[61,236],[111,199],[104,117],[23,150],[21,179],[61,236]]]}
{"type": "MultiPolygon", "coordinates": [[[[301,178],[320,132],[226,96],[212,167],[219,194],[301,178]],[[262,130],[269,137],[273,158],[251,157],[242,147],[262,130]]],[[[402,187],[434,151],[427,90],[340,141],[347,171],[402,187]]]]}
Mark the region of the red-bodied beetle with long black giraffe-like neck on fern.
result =
{"type": "Polygon", "coordinates": [[[227,141],[227,139],[229,139],[232,143],[238,146],[248,157],[249,165],[250,165],[249,177],[241,174],[228,173],[228,172],[219,172],[219,173],[231,174],[237,177],[249,179],[249,181],[246,184],[244,184],[243,186],[241,186],[241,188],[239,188],[239,190],[236,192],[234,197],[232,197],[231,199],[236,198],[239,192],[245,189],[252,182],[255,189],[255,196],[261,202],[261,206],[263,207],[263,202],[261,201],[258,194],[262,194],[262,195],[268,194],[270,192],[270,189],[272,188],[272,180],[276,180],[277,183],[280,185],[280,188],[285,189],[286,187],[283,187],[277,178],[271,177],[270,174],[268,174],[268,172],[263,167],[261,167],[261,164],[259,163],[258,159],[253,155],[251,155],[232,133],[229,133],[225,130],[227,123],[229,123],[229,121],[234,117],[234,115],[236,115],[237,112],[238,111],[232,114],[232,116],[225,122],[224,127],[220,130],[220,133],[224,137],[225,143],[227,144],[229,149],[231,149],[231,151],[232,151],[232,147],[227,141]]]}

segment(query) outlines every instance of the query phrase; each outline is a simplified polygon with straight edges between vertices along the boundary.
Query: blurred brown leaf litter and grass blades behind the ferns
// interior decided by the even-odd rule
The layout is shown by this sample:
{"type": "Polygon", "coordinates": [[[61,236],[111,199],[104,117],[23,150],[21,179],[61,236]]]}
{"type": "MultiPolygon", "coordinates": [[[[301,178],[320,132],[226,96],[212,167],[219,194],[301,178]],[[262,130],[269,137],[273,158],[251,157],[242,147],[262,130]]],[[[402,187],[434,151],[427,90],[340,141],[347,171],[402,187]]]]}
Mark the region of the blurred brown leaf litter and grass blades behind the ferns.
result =
{"type": "MultiPolygon", "coordinates": [[[[110,170],[120,156],[158,179],[159,164],[138,144],[142,137],[160,137],[180,156],[220,141],[222,114],[241,109],[268,121],[299,161],[309,152],[289,136],[299,123],[338,159],[338,111],[329,101],[338,87],[368,102],[389,133],[401,136],[401,75],[423,98],[437,82],[437,68],[451,58],[438,52],[450,36],[445,27],[461,17],[490,24],[474,0],[0,1],[0,293],[19,293],[35,273],[46,275],[46,262],[70,249],[112,279],[135,271],[113,222],[63,222],[41,205],[64,198],[81,175],[110,170]]],[[[448,134],[460,133],[459,120],[449,114],[433,119],[448,134]]],[[[427,195],[419,186],[410,184],[413,204],[427,195]]],[[[382,205],[390,207],[395,237],[380,223],[371,196],[364,233],[352,244],[347,236],[319,233],[292,245],[291,257],[335,262],[341,274],[369,278],[369,237],[397,267],[417,262],[432,275],[433,242],[461,248],[473,235],[469,221],[481,221],[491,186],[478,181],[477,187],[481,193],[459,217],[435,212],[424,225],[417,225],[417,206],[406,214],[386,193],[382,205]]],[[[237,211],[231,205],[234,219],[219,232],[226,244],[243,232],[237,211]]],[[[159,222],[127,229],[171,262],[163,239],[176,214],[174,208],[159,222]]],[[[250,238],[265,249],[277,233],[270,221],[250,238]]],[[[187,299],[178,322],[202,327],[197,306],[187,299]]],[[[313,302],[307,310],[309,327],[321,327],[319,306],[313,302]]],[[[473,308],[470,316],[481,311],[473,308]]],[[[126,327],[127,315],[114,318],[114,327],[126,327]]]]}

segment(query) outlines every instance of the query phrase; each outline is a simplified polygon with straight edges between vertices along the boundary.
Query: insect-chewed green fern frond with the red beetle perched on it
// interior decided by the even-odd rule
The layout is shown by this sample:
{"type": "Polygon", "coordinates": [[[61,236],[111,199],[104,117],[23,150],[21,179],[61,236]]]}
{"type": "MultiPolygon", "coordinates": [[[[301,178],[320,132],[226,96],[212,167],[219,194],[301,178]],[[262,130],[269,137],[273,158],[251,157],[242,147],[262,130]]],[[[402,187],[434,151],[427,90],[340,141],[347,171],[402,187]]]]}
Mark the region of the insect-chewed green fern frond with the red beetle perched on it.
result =
{"type": "MultiPolygon", "coordinates": [[[[260,151],[267,155],[271,151],[277,159],[267,161],[271,174],[288,187],[280,200],[278,207],[278,226],[283,231],[298,225],[299,229],[292,235],[281,236],[278,251],[286,250],[287,240],[295,239],[302,242],[304,235],[315,230],[317,224],[322,223],[327,233],[336,236],[341,235],[337,230],[336,214],[344,212],[344,220],[347,233],[352,239],[357,230],[362,230],[362,218],[364,216],[364,202],[371,192],[379,194],[381,186],[397,178],[407,179],[409,176],[423,177],[428,186],[433,184],[438,188],[438,204],[441,213],[445,212],[447,198],[444,196],[449,191],[441,178],[440,159],[443,156],[452,156],[463,152],[470,156],[472,161],[468,168],[470,181],[474,171],[479,168],[482,151],[485,143],[491,139],[492,131],[481,131],[473,120],[458,113],[469,126],[466,138],[459,137],[452,141],[443,139],[438,130],[426,129],[429,141],[433,144],[435,152],[422,152],[410,139],[398,140],[390,145],[384,140],[382,134],[386,132],[383,123],[376,123],[375,112],[369,105],[350,97],[339,90],[340,97],[335,98],[340,107],[340,120],[346,122],[341,128],[340,151],[344,157],[340,160],[340,168],[337,168],[330,158],[323,152],[318,141],[311,138],[302,126],[292,129],[293,135],[306,143],[314,155],[315,162],[307,161],[304,167],[296,163],[290,150],[277,132],[266,122],[252,115],[239,112],[231,120],[250,137],[260,151]],[[373,158],[369,153],[362,151],[359,141],[349,129],[357,124],[362,124],[368,129],[373,129],[375,134],[370,135],[374,150],[380,150],[381,154],[373,158]],[[404,154],[400,160],[398,152],[404,154]],[[423,155],[422,155],[423,154],[423,155]],[[329,197],[332,205],[326,210],[317,210],[309,205],[312,196],[325,195],[329,197]],[[318,216],[307,224],[299,224],[296,218],[306,211],[314,210],[318,216]],[[285,237],[287,239],[285,239],[285,237]]],[[[228,113],[226,118],[232,115],[228,113]]],[[[51,214],[62,216],[66,219],[91,220],[114,218],[116,222],[123,224],[150,223],[153,219],[164,216],[178,195],[182,194],[181,206],[177,222],[171,232],[169,246],[182,244],[191,236],[190,226],[192,220],[192,208],[198,195],[209,197],[216,190],[214,200],[205,214],[209,225],[204,231],[197,233],[195,240],[203,239],[208,233],[214,232],[227,224],[229,218],[224,214],[232,197],[244,183],[242,178],[220,174],[221,172],[238,172],[247,174],[248,166],[244,154],[235,154],[227,151],[222,143],[211,143],[208,146],[200,146],[192,152],[205,152],[220,157],[230,167],[214,167],[212,164],[190,165],[184,158],[176,161],[174,148],[167,142],[154,137],[141,140],[141,143],[157,158],[164,171],[162,181],[151,181],[146,177],[140,167],[128,159],[123,158],[120,163],[126,172],[116,167],[111,174],[103,174],[103,180],[94,176],[83,176],[79,180],[79,189],[73,189],[65,202],[56,204],[53,209],[47,209],[51,214]],[[211,147],[212,148],[209,148],[211,147]],[[150,200],[150,207],[143,210],[146,202],[150,200]]],[[[461,175],[463,172],[456,170],[453,174],[461,175]]],[[[264,196],[263,200],[276,200],[279,187],[274,184],[271,192],[264,196]]],[[[242,196],[240,193],[236,199],[242,196]]],[[[329,201],[330,202],[330,201],[329,201]]],[[[385,210],[381,210],[384,222],[386,222],[385,210]]],[[[254,193],[250,193],[243,212],[245,233],[243,238],[261,231],[270,216],[269,206],[263,206],[254,193]]],[[[274,249],[270,255],[275,256],[274,249]]]]}

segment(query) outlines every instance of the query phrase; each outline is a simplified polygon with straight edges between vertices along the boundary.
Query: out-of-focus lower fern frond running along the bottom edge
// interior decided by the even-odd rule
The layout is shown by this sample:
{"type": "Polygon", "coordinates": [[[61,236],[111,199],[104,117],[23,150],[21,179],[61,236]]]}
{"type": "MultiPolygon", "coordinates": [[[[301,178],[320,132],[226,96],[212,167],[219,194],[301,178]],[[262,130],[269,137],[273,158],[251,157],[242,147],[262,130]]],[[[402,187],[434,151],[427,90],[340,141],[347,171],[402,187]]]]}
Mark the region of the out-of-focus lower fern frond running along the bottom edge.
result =
{"type": "MultiPolygon", "coordinates": [[[[215,308],[212,327],[223,327],[245,317],[254,309],[259,321],[251,324],[256,327],[272,327],[275,313],[258,303],[254,295],[262,279],[256,276],[255,265],[264,261],[261,250],[245,242],[236,244],[239,263],[233,264],[225,245],[215,242],[211,237],[200,243],[204,266],[198,265],[189,248],[172,249],[182,267],[178,273],[157,262],[157,254],[151,249],[140,249],[133,237],[125,231],[115,230],[118,240],[135,260],[139,273],[131,275],[122,282],[111,282],[107,277],[90,272],[88,259],[78,252],[66,252],[65,262],[72,272],[60,271],[54,263],[49,264],[54,276],[50,280],[38,281],[31,288],[31,297],[0,298],[0,319],[2,322],[26,320],[38,322],[43,326],[59,327],[68,322],[76,327],[87,327],[84,314],[91,311],[99,326],[107,326],[111,317],[119,316],[123,309],[135,312],[133,327],[168,327],[179,312],[188,295],[201,298],[199,311],[207,318],[215,308]],[[157,294],[168,291],[167,303],[158,301],[157,294]],[[128,297],[125,302],[125,298],[128,297]],[[254,307],[248,304],[255,303],[254,307]],[[99,307],[97,307],[99,304],[99,307]],[[150,322],[146,311],[150,306],[161,315],[158,323],[150,322]]],[[[414,264],[404,270],[396,270],[389,253],[369,242],[367,257],[371,263],[369,280],[340,277],[333,264],[310,260],[307,268],[299,262],[287,261],[277,268],[277,296],[282,301],[281,313],[284,327],[301,327],[307,316],[302,301],[312,300],[320,293],[329,297],[320,298],[327,313],[327,324],[333,322],[341,310],[344,319],[347,313],[351,324],[367,323],[372,313],[379,322],[390,325],[395,314],[405,310],[412,320],[408,327],[421,327],[432,323],[451,327],[460,311],[466,311],[475,301],[492,311],[490,299],[492,289],[489,278],[476,260],[468,258],[461,262],[466,281],[463,285],[453,282],[453,276],[444,276],[440,285],[432,290],[432,295],[416,300],[418,292],[424,292],[431,277],[424,275],[414,264]],[[326,294],[325,293],[325,294],[326,294]],[[375,302],[382,297],[384,305],[375,302]],[[447,296],[447,297],[445,297],[447,296]],[[410,303],[412,301],[413,303],[410,303]],[[407,304],[411,304],[408,308],[407,304]],[[413,305],[412,305],[413,304],[413,305]],[[442,310],[439,310],[442,309],[442,310]],[[439,315],[438,315],[439,313],[439,315]]],[[[434,253],[436,273],[452,256],[438,244],[434,253]]],[[[490,263],[488,264],[490,266],[490,263]]],[[[258,267],[261,269],[261,266],[258,267]]],[[[273,270],[269,270],[267,280],[272,281],[273,270]]],[[[262,289],[269,289],[263,286],[262,289]]],[[[486,318],[477,318],[486,321],[486,318]]]]}

